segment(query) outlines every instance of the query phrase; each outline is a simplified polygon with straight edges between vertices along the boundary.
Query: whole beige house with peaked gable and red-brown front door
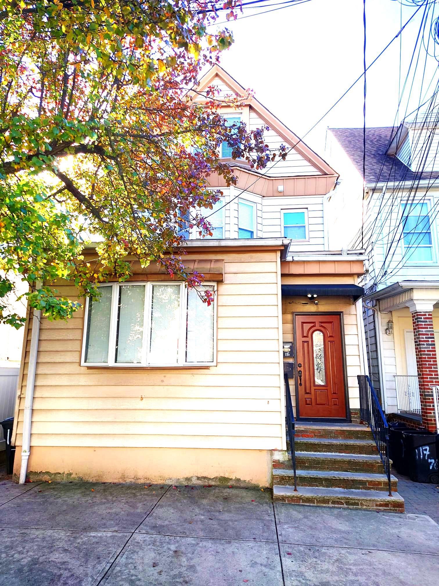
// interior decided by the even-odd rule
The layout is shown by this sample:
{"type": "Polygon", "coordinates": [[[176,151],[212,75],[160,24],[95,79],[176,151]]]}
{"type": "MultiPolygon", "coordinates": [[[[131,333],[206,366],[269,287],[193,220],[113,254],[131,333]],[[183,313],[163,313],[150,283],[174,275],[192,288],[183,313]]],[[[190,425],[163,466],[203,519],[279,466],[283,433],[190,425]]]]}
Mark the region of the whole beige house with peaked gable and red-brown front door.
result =
{"type": "Polygon", "coordinates": [[[317,388],[315,359],[302,372],[296,356],[299,370],[287,373],[296,417],[358,419],[356,376],[365,371],[355,300],[363,262],[358,251],[328,251],[325,201],[337,172],[220,67],[205,75],[193,99],[203,103],[203,91],[213,85],[219,108],[221,97],[242,100],[238,110],[225,105],[222,114],[253,129],[268,125],[270,147],[286,144],[291,151],[263,172],[223,156],[236,185],[209,178],[222,191],[208,218],[213,236],[200,239],[185,227],[184,263],[215,288],[213,311],[156,265],[143,270],[134,259],[131,279],[102,284],[98,304],[78,299],[68,282],[54,284],[84,309],[68,322],[43,318],[39,336],[28,322],[15,475],[29,458],[28,477],[35,479],[269,486],[273,454],[286,451],[284,372],[291,358],[284,359],[283,342],[300,353],[306,344],[314,347],[315,332],[324,338],[328,384],[317,388]],[[314,325],[296,346],[303,316],[314,325]],[[295,372],[303,375],[302,387],[295,372]],[[304,415],[304,390],[325,394],[326,403],[314,401],[314,411],[304,415]]]}

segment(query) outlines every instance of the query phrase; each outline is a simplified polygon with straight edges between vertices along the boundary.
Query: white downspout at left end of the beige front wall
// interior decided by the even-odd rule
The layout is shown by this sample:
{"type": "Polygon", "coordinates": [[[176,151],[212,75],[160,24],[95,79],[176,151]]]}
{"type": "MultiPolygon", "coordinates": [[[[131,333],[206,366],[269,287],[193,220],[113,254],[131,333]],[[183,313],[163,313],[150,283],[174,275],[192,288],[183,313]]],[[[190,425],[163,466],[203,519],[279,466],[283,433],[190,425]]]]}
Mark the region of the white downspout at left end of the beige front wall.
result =
{"type": "MultiPolygon", "coordinates": [[[[40,287],[41,283],[37,282],[36,288],[39,289],[40,287]]],[[[26,473],[28,472],[28,460],[30,453],[30,427],[32,425],[33,390],[35,388],[35,372],[38,352],[38,339],[40,334],[40,318],[41,311],[37,311],[34,309],[32,318],[32,334],[30,336],[28,380],[26,381],[25,413],[23,415],[23,440],[19,479],[20,484],[24,484],[26,482],[26,473]]],[[[24,343],[26,343],[26,340],[24,340],[24,343]]]]}

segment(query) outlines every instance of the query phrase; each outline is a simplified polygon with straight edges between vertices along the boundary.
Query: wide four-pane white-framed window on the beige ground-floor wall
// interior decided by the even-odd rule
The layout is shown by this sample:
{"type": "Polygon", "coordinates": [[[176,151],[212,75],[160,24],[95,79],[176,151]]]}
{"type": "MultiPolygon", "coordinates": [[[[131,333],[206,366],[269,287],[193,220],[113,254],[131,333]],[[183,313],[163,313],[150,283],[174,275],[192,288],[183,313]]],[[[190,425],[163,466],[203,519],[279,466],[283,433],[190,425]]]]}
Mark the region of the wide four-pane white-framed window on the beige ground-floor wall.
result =
{"type": "Polygon", "coordinates": [[[204,284],[114,283],[87,299],[83,366],[188,366],[215,363],[216,302],[205,304],[204,284]]]}

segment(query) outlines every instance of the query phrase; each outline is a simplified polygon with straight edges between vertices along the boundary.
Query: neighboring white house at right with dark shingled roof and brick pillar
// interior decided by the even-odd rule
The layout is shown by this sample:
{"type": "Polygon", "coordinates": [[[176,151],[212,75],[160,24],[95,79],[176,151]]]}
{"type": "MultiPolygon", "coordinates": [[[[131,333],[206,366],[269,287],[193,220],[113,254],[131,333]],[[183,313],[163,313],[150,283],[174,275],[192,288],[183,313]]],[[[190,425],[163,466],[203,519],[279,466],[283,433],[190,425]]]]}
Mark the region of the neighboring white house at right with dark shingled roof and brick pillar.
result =
{"type": "Polygon", "coordinates": [[[368,258],[363,318],[373,385],[387,414],[430,431],[439,384],[438,144],[439,129],[420,113],[399,127],[367,128],[363,203],[363,129],[328,130],[326,155],[341,173],[351,245],[368,258]]]}

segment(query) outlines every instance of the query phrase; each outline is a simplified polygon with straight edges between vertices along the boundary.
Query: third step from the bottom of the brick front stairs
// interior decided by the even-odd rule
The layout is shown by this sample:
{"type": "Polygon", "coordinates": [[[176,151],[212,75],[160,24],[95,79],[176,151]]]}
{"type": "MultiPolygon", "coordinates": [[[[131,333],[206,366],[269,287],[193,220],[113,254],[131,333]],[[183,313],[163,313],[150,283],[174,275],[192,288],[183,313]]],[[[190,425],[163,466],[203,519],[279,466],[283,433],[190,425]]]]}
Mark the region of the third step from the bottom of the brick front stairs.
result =
{"type": "MultiPolygon", "coordinates": [[[[279,466],[273,466],[278,468],[279,466]]],[[[289,468],[289,466],[285,466],[289,468]]],[[[334,452],[296,451],[296,468],[302,470],[327,470],[340,472],[368,472],[382,474],[379,455],[337,454],[334,452]]]]}

